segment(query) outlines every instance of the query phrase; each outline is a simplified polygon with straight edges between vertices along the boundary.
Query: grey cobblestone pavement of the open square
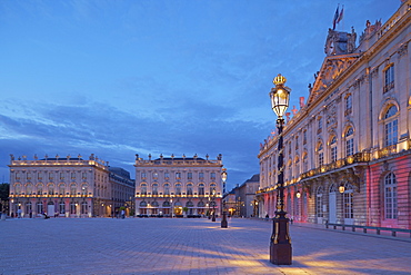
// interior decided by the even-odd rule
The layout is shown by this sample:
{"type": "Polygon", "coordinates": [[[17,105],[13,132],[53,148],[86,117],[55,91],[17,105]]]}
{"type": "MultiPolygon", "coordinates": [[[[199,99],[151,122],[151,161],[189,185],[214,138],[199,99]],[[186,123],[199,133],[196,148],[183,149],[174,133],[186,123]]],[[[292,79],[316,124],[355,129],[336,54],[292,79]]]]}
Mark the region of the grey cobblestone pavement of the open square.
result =
{"type": "Polygon", "coordinates": [[[290,226],[293,263],[269,262],[271,222],[0,220],[0,274],[410,274],[411,239],[290,226]]]}

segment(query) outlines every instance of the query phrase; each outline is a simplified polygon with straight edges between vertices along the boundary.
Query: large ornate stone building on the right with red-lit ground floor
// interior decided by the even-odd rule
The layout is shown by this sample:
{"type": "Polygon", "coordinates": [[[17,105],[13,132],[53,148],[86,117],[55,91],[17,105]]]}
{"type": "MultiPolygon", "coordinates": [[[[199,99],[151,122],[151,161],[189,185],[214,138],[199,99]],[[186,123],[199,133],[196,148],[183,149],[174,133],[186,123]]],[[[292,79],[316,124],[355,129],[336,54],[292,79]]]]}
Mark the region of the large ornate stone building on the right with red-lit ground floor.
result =
{"type": "MultiPolygon", "coordinates": [[[[329,30],[308,101],[283,130],[294,220],[411,228],[410,19],[402,1],[385,23],[367,21],[358,46],[353,29],[329,30]]],[[[260,217],[275,212],[277,147],[270,136],[258,156],[260,217]]]]}

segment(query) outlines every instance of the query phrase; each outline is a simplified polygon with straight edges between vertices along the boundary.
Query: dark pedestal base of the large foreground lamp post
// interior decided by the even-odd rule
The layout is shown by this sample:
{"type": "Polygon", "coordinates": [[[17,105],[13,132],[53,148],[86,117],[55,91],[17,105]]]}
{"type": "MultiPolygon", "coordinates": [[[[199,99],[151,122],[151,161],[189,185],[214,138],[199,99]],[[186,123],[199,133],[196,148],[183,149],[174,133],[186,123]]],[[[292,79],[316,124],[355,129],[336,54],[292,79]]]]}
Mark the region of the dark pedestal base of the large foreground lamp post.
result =
{"type": "Polygon", "coordinates": [[[270,240],[270,262],[274,265],[292,264],[289,219],[283,215],[273,219],[273,233],[270,240]]]}

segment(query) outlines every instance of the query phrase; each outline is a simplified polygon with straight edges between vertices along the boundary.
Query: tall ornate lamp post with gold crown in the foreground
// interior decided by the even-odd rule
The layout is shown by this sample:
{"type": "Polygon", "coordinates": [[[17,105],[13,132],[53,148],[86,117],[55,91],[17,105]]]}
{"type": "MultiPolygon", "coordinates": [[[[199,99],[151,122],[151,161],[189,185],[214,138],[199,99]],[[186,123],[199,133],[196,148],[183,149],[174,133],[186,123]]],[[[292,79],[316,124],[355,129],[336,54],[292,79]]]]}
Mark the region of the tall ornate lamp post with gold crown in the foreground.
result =
{"type": "Polygon", "coordinates": [[[284,210],[284,155],[282,129],[284,118],[282,117],[289,107],[291,89],[284,86],[287,79],[280,73],[274,78],[274,88],[271,88],[270,98],[272,110],[278,116],[278,183],[277,183],[277,210],[273,218],[273,228],[270,240],[270,262],[275,265],[291,265],[292,248],[289,235],[289,218],[284,210]]]}

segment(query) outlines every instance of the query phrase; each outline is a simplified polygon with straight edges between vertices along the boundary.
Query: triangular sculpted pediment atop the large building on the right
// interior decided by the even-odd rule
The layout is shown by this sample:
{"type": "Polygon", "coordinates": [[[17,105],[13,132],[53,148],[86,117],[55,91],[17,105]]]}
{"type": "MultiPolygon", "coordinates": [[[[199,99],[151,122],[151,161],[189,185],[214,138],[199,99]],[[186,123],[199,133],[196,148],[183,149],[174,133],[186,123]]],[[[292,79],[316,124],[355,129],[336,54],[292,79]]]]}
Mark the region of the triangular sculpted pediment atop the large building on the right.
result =
{"type": "Polygon", "coordinates": [[[315,82],[310,89],[307,105],[312,104],[359,58],[359,53],[327,57],[321,66],[315,82]]]}

